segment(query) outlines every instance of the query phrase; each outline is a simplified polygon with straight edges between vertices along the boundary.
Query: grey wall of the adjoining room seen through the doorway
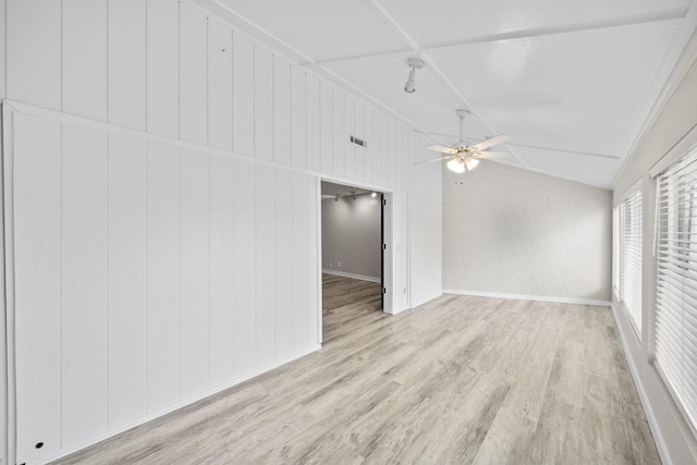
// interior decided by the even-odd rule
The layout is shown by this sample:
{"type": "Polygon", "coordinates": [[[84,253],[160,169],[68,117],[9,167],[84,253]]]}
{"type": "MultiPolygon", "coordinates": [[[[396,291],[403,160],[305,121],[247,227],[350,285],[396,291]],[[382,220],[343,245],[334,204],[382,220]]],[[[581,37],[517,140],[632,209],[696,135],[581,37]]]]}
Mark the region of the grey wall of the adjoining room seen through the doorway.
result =
{"type": "Polygon", "coordinates": [[[322,200],[322,269],[380,280],[380,197],[322,200]]]}

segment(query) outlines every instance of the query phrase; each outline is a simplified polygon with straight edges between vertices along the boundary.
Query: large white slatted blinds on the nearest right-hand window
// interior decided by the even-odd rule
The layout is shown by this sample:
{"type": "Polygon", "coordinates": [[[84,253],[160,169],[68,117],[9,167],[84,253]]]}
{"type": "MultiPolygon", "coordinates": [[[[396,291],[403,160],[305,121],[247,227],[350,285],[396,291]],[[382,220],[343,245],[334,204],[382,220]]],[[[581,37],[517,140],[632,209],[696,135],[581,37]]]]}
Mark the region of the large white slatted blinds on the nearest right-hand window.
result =
{"type": "Polygon", "coordinates": [[[697,429],[697,151],[658,180],[656,365],[697,429]]]}

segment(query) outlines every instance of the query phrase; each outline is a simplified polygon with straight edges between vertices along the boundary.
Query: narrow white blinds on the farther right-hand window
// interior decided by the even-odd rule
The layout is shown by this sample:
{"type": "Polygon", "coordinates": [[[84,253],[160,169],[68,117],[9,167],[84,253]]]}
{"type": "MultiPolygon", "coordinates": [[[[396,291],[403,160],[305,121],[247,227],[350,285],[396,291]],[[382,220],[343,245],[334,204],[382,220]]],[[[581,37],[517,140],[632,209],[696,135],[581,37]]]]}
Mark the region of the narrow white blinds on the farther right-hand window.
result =
{"type": "Polygon", "coordinates": [[[641,189],[620,204],[620,298],[641,334],[641,189]]]}

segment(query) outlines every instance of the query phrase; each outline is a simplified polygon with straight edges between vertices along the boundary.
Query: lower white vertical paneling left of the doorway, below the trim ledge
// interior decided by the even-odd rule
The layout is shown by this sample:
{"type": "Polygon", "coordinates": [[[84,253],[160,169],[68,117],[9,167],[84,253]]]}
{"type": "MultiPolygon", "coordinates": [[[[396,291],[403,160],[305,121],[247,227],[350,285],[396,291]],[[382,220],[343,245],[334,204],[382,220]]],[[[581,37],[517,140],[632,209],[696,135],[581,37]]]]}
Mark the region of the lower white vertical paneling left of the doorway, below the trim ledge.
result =
{"type": "Polygon", "coordinates": [[[316,346],[313,176],[38,117],[14,134],[17,461],[316,346]]]}

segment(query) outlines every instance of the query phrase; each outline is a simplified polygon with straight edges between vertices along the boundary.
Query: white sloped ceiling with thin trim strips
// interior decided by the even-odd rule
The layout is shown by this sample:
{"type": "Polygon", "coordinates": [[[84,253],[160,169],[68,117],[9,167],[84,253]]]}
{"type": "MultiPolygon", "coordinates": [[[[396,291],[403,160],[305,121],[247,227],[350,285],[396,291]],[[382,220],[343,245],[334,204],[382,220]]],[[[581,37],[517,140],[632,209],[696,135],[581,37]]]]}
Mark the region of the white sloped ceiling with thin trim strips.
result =
{"type": "Polygon", "coordinates": [[[503,162],[602,187],[697,25],[697,0],[197,1],[433,142],[468,108],[466,140],[510,134],[503,162]]]}

